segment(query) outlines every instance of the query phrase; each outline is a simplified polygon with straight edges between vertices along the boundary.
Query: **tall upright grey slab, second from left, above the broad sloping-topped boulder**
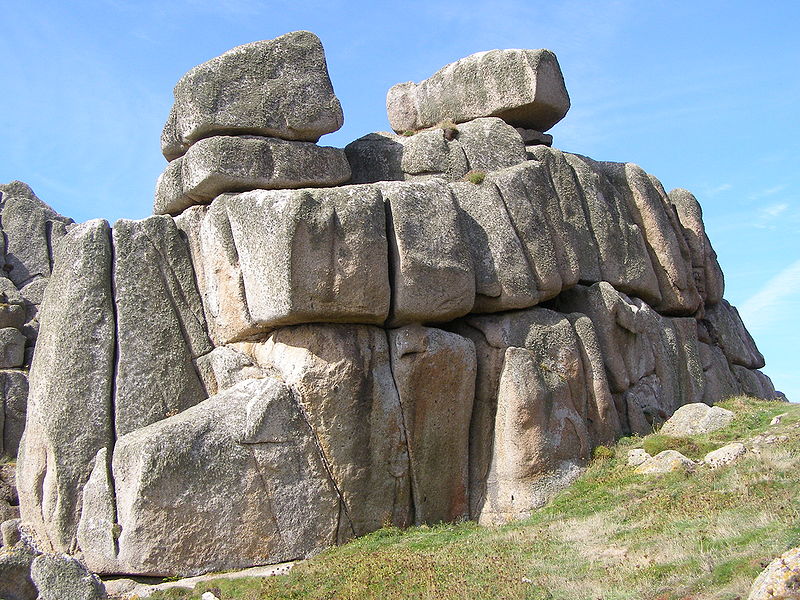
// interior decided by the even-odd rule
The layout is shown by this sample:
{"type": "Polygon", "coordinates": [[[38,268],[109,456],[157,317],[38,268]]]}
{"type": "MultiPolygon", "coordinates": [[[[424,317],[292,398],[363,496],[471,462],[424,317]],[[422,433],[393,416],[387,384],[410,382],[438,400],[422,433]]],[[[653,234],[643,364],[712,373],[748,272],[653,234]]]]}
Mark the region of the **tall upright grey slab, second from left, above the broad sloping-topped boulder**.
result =
{"type": "Polygon", "coordinates": [[[170,217],[117,221],[114,427],[124,435],[208,397],[198,357],[211,351],[186,242],[170,217]]]}

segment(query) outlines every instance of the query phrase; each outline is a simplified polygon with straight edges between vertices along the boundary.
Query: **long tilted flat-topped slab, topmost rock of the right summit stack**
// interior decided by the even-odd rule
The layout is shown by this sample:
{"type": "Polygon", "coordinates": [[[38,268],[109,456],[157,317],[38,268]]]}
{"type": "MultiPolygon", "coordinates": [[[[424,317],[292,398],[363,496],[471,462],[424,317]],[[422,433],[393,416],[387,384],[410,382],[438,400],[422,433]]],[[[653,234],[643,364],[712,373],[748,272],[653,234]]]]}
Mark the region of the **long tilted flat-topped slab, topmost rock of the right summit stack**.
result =
{"type": "Polygon", "coordinates": [[[478,117],[547,131],[567,114],[569,95],[549,50],[489,50],[450,63],[420,83],[393,86],[386,110],[397,132],[478,117]]]}

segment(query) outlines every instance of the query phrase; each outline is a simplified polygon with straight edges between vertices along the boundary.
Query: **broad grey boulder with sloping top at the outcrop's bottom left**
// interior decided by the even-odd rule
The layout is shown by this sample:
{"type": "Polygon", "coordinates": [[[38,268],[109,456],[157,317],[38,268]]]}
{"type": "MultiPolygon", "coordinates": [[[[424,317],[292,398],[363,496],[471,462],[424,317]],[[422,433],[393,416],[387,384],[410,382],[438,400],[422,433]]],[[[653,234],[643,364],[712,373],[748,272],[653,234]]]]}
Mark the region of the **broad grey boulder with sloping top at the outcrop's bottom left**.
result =
{"type": "MultiPolygon", "coordinates": [[[[83,548],[93,570],[191,575],[283,562],[336,543],[346,527],[307,417],[273,378],[120,437],[112,471],[118,553],[98,560],[102,547],[83,548]]],[[[104,522],[98,506],[85,505],[82,522],[104,522]]]]}

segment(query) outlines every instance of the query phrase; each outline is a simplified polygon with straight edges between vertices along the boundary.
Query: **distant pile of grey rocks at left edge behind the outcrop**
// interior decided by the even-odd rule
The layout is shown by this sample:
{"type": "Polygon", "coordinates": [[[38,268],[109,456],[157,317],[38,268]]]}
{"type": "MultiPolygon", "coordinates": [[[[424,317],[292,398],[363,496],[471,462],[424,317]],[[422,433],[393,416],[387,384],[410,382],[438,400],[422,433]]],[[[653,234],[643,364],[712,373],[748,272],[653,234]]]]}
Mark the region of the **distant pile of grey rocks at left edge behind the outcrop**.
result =
{"type": "MultiPolygon", "coordinates": [[[[17,455],[25,428],[28,369],[39,335],[39,307],[54,248],[71,224],[72,219],[57,214],[24,183],[0,185],[0,456],[17,455]]],[[[3,478],[0,475],[0,486],[3,478]]],[[[0,521],[15,510],[7,508],[5,500],[0,498],[0,521]]]]}

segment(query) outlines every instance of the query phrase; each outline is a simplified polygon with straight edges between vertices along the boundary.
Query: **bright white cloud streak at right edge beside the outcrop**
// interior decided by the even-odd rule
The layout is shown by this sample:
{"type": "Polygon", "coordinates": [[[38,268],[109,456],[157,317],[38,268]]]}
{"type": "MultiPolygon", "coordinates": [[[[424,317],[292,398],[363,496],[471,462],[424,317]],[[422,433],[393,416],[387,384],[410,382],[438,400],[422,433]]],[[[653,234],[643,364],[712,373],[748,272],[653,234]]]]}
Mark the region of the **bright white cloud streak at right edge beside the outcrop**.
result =
{"type": "Polygon", "coordinates": [[[765,330],[788,314],[797,311],[800,298],[800,260],[770,279],[764,287],[739,307],[742,320],[751,333],[765,330]]]}

